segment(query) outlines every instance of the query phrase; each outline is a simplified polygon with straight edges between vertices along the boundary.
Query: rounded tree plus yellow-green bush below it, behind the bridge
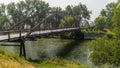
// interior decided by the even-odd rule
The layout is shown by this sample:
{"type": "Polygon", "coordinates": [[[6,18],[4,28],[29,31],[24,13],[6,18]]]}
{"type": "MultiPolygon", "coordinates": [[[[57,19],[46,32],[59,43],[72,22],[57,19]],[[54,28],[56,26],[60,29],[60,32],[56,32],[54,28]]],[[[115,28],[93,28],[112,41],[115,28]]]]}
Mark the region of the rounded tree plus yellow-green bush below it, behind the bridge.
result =
{"type": "Polygon", "coordinates": [[[66,16],[61,20],[60,27],[80,26],[79,23],[81,23],[82,20],[89,20],[90,18],[90,11],[88,11],[87,7],[81,3],[75,6],[68,5],[65,12],[67,12],[69,16],[66,16]]]}

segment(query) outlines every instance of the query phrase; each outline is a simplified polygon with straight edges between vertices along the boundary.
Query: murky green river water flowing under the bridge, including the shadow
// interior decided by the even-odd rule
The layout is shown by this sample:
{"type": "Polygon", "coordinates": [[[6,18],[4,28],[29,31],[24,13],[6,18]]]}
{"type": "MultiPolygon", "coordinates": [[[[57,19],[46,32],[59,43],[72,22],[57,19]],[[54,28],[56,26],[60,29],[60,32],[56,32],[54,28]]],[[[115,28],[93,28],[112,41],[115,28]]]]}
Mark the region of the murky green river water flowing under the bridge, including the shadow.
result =
{"type": "MultiPolygon", "coordinates": [[[[63,57],[80,64],[91,65],[89,61],[88,41],[74,41],[54,38],[42,38],[37,41],[26,41],[26,54],[28,59],[43,60],[56,56],[63,57]]],[[[8,51],[19,53],[19,47],[4,47],[8,51]]]]}

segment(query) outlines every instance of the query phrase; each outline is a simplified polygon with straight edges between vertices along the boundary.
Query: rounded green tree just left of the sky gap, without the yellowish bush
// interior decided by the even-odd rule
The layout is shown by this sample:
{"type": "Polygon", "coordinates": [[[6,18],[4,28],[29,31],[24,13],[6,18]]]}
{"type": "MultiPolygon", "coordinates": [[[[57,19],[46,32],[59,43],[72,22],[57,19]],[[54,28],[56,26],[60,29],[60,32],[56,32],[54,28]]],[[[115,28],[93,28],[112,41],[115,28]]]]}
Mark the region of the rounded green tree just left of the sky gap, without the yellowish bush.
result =
{"type": "Polygon", "coordinates": [[[81,3],[75,6],[68,5],[65,11],[74,18],[74,24],[78,27],[80,25],[79,23],[81,23],[82,20],[89,20],[91,14],[86,5],[83,5],[81,3]]]}

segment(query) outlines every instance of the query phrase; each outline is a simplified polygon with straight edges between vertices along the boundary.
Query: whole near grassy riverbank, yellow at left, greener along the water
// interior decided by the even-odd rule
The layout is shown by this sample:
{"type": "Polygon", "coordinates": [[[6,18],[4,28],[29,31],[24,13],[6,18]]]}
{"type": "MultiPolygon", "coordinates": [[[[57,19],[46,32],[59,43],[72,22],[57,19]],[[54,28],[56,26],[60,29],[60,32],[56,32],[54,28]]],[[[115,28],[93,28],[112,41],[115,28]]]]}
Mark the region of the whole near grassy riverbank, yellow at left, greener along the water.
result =
{"type": "Polygon", "coordinates": [[[18,55],[0,50],[0,68],[89,68],[61,58],[53,58],[44,61],[28,61],[18,55]]]}

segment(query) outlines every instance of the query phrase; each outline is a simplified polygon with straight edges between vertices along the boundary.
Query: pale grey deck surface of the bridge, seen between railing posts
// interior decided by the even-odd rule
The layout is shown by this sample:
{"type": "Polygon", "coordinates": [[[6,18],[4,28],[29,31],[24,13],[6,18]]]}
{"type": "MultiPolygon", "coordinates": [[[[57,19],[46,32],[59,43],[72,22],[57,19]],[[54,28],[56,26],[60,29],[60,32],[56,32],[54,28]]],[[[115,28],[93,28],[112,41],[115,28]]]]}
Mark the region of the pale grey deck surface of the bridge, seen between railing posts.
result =
{"type": "MultiPolygon", "coordinates": [[[[54,32],[63,32],[63,31],[71,31],[71,30],[78,30],[79,28],[63,28],[63,29],[55,29],[55,30],[44,30],[44,31],[34,31],[30,34],[31,35],[43,35],[43,34],[49,34],[54,32]]],[[[24,37],[27,34],[27,32],[21,33],[21,36],[24,37]]],[[[16,34],[10,34],[10,39],[19,39],[20,33],[16,34]]],[[[8,35],[1,35],[0,41],[8,40],[8,35]]]]}

